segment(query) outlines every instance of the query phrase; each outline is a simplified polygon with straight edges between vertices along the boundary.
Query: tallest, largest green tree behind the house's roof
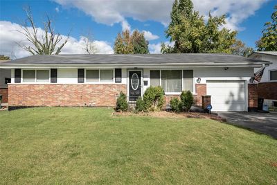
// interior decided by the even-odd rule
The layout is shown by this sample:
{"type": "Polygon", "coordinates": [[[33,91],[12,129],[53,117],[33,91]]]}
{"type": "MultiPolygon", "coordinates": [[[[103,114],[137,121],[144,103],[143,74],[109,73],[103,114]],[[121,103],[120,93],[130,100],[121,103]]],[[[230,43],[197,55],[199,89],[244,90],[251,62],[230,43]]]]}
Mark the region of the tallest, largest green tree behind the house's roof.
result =
{"type": "Polygon", "coordinates": [[[237,32],[222,28],[225,15],[213,17],[210,13],[205,22],[198,11],[193,11],[191,0],[175,0],[170,17],[166,37],[175,45],[162,44],[162,53],[231,53],[237,32]]]}

